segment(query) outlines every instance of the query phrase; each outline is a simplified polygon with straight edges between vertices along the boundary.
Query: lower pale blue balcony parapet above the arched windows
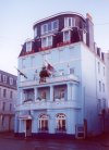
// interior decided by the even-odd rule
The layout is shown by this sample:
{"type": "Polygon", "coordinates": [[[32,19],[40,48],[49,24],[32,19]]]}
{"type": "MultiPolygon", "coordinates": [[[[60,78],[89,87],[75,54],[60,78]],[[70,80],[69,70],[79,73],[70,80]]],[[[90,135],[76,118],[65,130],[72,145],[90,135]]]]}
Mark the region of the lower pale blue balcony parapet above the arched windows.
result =
{"type": "Polygon", "coordinates": [[[43,109],[77,109],[80,110],[81,102],[74,100],[60,100],[60,101],[33,101],[31,103],[22,103],[15,105],[15,111],[27,111],[27,110],[43,110],[43,109]]]}

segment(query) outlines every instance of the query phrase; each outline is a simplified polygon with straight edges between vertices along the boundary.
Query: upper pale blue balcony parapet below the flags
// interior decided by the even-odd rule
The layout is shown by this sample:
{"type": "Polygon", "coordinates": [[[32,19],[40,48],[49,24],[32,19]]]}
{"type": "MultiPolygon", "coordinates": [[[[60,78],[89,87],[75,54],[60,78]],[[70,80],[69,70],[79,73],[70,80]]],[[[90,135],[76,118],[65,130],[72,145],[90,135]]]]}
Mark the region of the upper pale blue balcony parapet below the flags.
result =
{"type": "Polygon", "coordinates": [[[36,80],[25,80],[20,83],[20,87],[26,87],[26,86],[39,86],[39,85],[47,85],[47,84],[53,84],[53,83],[63,83],[63,82],[77,82],[78,77],[75,75],[61,75],[61,76],[55,76],[55,77],[47,77],[45,82],[39,82],[39,78],[36,80]]]}

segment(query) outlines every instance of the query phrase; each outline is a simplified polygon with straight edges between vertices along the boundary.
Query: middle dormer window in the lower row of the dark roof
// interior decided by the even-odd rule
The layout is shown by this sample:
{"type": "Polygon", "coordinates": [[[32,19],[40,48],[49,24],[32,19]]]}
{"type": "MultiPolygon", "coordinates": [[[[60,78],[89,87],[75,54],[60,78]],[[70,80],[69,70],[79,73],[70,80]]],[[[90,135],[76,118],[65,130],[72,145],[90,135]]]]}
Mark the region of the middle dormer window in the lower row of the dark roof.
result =
{"type": "Polygon", "coordinates": [[[41,47],[43,48],[50,47],[50,46],[52,46],[52,36],[41,38],[41,47]]]}

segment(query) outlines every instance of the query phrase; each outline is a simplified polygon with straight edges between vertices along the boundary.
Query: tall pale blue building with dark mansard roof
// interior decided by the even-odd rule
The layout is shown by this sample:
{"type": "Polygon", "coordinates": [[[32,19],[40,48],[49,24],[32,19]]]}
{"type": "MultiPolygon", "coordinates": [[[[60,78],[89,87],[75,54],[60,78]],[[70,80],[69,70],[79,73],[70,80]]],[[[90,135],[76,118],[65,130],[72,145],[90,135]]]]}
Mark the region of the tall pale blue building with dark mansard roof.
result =
{"type": "Polygon", "coordinates": [[[64,12],[33,26],[19,57],[15,133],[76,135],[104,129],[107,108],[104,53],[92,17],[64,12]]]}

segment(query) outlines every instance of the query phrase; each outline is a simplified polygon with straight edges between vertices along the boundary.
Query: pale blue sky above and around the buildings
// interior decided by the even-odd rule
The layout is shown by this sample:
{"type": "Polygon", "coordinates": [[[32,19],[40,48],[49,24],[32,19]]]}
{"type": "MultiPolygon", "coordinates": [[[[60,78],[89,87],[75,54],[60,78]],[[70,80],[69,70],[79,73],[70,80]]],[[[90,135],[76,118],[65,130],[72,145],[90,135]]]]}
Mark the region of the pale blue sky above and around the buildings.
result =
{"type": "Polygon", "coordinates": [[[33,24],[64,11],[90,13],[97,46],[109,49],[108,0],[0,0],[0,70],[16,74],[21,45],[33,38],[33,24]]]}

